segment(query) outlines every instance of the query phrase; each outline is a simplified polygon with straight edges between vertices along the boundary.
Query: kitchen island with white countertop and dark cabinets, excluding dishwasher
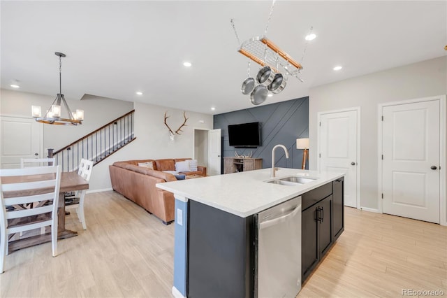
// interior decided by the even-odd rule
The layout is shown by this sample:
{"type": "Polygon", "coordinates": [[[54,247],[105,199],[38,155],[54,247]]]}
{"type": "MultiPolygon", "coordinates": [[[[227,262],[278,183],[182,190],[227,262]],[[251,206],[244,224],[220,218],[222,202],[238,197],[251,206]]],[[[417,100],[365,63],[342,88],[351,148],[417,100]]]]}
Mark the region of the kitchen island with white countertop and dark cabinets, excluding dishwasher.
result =
{"type": "Polygon", "coordinates": [[[175,196],[173,295],[261,297],[258,213],[294,198],[302,211],[300,284],[343,232],[343,176],[279,169],[271,178],[261,169],[157,184],[175,196]],[[271,183],[291,176],[306,183],[271,183]]]}

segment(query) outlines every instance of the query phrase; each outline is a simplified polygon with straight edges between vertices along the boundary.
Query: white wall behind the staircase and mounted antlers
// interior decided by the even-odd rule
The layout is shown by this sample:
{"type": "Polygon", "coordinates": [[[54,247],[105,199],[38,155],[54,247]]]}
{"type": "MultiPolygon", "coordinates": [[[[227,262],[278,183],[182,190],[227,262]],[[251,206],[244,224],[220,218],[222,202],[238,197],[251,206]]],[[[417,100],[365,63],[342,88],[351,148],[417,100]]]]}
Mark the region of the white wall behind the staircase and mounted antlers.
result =
{"type": "MultiPolygon", "coordinates": [[[[31,105],[42,106],[45,111],[53,100],[53,97],[41,94],[2,89],[0,90],[0,115],[31,117],[31,105]]],[[[183,123],[183,111],[103,97],[88,97],[82,101],[67,99],[67,103],[71,109],[82,108],[85,111],[83,124],[77,127],[42,124],[44,148],[58,150],[135,108],[137,139],[94,166],[89,191],[106,190],[112,187],[108,166],[117,161],[192,157],[193,127],[212,129],[212,115],[186,111],[186,116],[189,118],[186,122],[187,126],[183,127],[182,135],[175,136],[175,141],[171,142],[168,128],[163,124],[163,115],[165,111],[168,111],[170,115],[168,124],[175,131],[183,123]],[[199,120],[203,120],[204,123],[199,123],[199,120]]]]}

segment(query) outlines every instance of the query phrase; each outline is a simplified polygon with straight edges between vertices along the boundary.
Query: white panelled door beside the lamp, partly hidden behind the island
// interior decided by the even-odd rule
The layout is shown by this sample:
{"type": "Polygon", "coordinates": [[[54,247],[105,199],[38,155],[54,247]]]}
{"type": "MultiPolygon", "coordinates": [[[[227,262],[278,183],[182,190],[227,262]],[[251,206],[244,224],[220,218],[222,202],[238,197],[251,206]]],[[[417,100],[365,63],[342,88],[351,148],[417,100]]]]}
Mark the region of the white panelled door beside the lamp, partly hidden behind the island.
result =
{"type": "Polygon", "coordinates": [[[358,110],[322,113],[319,127],[319,169],[345,173],[344,205],[358,204],[358,110]]]}

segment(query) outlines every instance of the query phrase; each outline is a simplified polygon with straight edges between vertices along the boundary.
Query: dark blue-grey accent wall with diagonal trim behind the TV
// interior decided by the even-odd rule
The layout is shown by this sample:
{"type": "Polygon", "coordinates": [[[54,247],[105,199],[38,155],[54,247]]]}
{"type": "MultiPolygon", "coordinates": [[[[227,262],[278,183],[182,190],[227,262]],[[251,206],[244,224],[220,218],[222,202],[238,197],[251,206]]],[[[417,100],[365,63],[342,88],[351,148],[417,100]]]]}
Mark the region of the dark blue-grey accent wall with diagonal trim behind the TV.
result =
{"type": "Polygon", "coordinates": [[[275,152],[275,166],[301,169],[302,150],[296,148],[296,139],[309,137],[309,97],[214,115],[214,129],[218,128],[222,130],[223,157],[235,156],[235,150],[240,155],[247,155],[251,151],[252,157],[263,159],[263,168],[271,168],[272,148],[282,144],[288,148],[289,158],[286,159],[284,150],[278,148],[275,152]],[[260,122],[262,146],[230,147],[228,125],[246,122],[260,122]]]}

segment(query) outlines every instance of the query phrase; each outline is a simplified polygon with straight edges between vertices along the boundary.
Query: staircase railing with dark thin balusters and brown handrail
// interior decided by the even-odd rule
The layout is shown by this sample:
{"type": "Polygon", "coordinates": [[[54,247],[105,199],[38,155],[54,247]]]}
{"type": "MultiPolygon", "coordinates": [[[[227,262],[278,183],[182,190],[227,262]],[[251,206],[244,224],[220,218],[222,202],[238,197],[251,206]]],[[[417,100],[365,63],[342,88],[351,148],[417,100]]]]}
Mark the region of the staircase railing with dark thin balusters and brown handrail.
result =
{"type": "Polygon", "coordinates": [[[54,157],[61,171],[78,171],[82,158],[102,162],[117,150],[135,140],[133,135],[135,110],[122,115],[57,151],[48,149],[48,157],[54,157]]]}

